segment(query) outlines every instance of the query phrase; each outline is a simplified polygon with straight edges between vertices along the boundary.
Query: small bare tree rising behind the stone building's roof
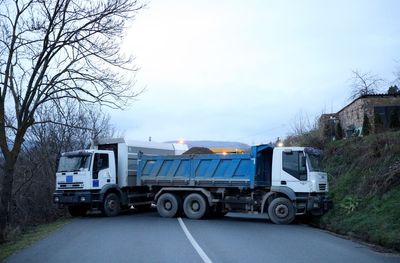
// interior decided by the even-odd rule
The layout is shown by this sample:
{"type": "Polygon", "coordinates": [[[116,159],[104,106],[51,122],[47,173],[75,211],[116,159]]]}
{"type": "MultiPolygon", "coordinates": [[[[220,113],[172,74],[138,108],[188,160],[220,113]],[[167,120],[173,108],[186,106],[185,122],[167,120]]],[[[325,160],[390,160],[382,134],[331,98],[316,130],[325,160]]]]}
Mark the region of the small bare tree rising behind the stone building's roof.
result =
{"type": "Polygon", "coordinates": [[[353,70],[353,89],[350,99],[355,99],[360,96],[375,94],[379,89],[379,84],[383,79],[377,75],[372,75],[370,72],[362,73],[358,70],[353,70]]]}

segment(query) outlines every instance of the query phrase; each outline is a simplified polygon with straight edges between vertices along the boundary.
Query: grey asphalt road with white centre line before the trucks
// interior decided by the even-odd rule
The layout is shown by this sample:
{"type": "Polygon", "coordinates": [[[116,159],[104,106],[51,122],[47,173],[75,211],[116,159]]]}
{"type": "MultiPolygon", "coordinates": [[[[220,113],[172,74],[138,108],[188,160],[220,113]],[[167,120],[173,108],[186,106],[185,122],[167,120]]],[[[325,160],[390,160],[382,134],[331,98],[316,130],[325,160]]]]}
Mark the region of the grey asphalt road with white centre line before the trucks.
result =
{"type": "Polygon", "coordinates": [[[400,257],[304,225],[232,217],[179,222],[132,211],[74,219],[5,262],[372,263],[400,257]]]}

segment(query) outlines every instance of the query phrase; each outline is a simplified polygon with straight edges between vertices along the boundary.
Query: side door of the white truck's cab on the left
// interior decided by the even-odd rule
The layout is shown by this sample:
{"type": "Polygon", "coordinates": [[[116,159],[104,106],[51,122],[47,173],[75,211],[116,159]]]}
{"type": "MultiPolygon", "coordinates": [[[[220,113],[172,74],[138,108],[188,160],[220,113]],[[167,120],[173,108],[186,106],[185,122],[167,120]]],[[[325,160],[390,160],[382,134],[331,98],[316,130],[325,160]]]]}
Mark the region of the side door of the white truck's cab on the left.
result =
{"type": "Polygon", "coordinates": [[[96,153],[93,161],[93,188],[99,189],[106,184],[115,184],[110,171],[109,155],[107,153],[96,153]]]}

